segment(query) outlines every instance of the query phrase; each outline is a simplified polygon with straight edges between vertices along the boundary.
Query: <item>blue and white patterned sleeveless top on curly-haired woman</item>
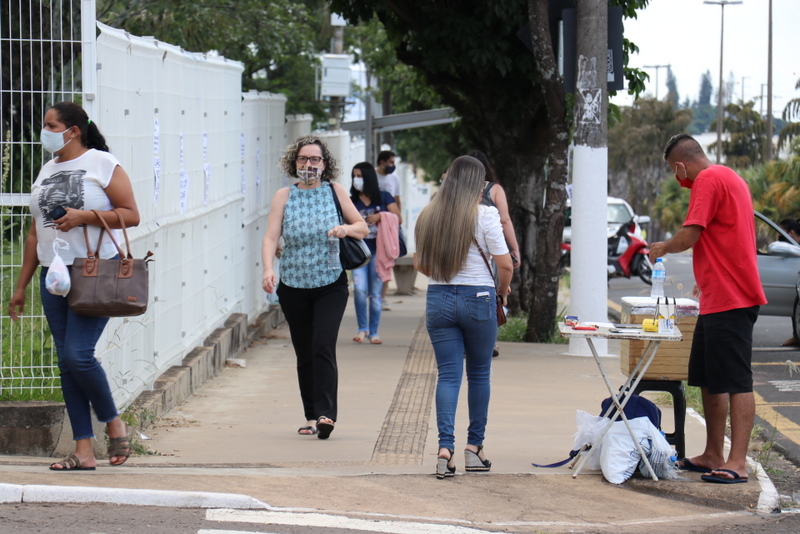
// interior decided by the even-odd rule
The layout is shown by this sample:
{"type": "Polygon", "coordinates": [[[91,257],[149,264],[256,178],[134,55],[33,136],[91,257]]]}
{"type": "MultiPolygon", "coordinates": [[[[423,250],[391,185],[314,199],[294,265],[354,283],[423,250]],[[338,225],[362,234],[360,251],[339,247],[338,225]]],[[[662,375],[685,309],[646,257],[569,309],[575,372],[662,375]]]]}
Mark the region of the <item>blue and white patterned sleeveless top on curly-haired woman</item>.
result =
{"type": "Polygon", "coordinates": [[[333,195],[328,182],[314,189],[289,187],[281,254],[281,281],[287,286],[323,287],[342,275],[342,269],[328,269],[328,230],[340,224],[333,195]]]}

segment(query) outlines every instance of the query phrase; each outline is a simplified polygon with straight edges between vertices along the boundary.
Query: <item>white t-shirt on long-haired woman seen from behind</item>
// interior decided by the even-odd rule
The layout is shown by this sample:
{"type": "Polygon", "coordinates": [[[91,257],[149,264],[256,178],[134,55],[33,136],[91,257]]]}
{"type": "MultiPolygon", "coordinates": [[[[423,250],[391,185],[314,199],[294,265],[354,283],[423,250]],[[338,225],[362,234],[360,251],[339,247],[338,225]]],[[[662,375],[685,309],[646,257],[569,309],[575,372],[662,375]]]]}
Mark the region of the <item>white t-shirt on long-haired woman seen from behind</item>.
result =
{"type": "MultiPolygon", "coordinates": [[[[494,206],[478,206],[478,219],[475,223],[475,240],[486,254],[489,263],[492,256],[508,254],[508,245],[503,237],[503,227],[500,224],[500,212],[494,206]]],[[[448,284],[460,286],[494,286],[494,278],[475,243],[472,243],[467,253],[464,267],[449,282],[430,279],[428,284],[448,284]]]]}

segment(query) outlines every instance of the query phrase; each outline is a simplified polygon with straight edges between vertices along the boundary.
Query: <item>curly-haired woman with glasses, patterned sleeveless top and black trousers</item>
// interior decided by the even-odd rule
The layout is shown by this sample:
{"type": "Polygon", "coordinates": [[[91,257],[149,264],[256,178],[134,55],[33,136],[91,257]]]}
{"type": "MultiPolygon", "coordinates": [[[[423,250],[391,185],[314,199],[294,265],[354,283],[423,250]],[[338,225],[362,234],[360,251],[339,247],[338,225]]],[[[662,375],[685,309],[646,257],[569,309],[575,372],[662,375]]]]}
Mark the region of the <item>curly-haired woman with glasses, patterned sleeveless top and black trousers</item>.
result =
{"type": "Polygon", "coordinates": [[[297,356],[297,380],[306,422],[297,433],[327,439],[337,418],[336,341],[347,306],[347,275],[328,265],[328,237],[363,239],[367,223],[341,185],[336,160],[320,138],[307,135],[284,150],[280,168],[297,182],[275,193],[261,246],[261,287],[277,292],[297,356]],[[334,202],[342,207],[344,221],[334,202]],[[274,270],[284,239],[281,279],[274,270]]]}

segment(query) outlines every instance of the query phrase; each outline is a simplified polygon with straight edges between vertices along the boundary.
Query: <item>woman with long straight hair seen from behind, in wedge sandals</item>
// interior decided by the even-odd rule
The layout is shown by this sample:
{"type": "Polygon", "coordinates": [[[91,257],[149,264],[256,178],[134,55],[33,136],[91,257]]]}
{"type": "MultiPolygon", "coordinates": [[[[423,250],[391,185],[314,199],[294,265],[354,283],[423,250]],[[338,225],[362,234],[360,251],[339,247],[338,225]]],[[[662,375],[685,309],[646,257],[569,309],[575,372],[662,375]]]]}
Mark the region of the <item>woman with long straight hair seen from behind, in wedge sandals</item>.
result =
{"type": "Polygon", "coordinates": [[[496,294],[510,293],[513,266],[497,208],[480,205],[486,171],[475,158],[450,165],[441,189],[420,213],[414,264],[429,277],[425,324],[436,355],[437,478],[456,472],[455,414],[466,363],[469,428],[467,471],[489,471],[483,452],[489,412],[492,349],[497,336],[496,294]],[[483,256],[483,257],[482,257],[483,256]],[[497,264],[498,289],[484,261],[497,264]]]}

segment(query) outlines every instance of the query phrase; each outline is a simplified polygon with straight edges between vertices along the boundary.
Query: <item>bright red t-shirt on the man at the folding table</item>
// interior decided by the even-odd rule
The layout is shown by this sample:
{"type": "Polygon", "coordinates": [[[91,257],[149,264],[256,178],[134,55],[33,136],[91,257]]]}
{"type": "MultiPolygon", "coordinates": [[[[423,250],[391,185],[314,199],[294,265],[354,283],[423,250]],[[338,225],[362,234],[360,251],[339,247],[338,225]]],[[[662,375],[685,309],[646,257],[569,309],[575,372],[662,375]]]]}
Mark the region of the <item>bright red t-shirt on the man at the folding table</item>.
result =
{"type": "Polygon", "coordinates": [[[722,165],[695,178],[684,226],[703,228],[694,244],[700,314],[766,304],[756,259],[753,201],[747,183],[722,165]]]}

